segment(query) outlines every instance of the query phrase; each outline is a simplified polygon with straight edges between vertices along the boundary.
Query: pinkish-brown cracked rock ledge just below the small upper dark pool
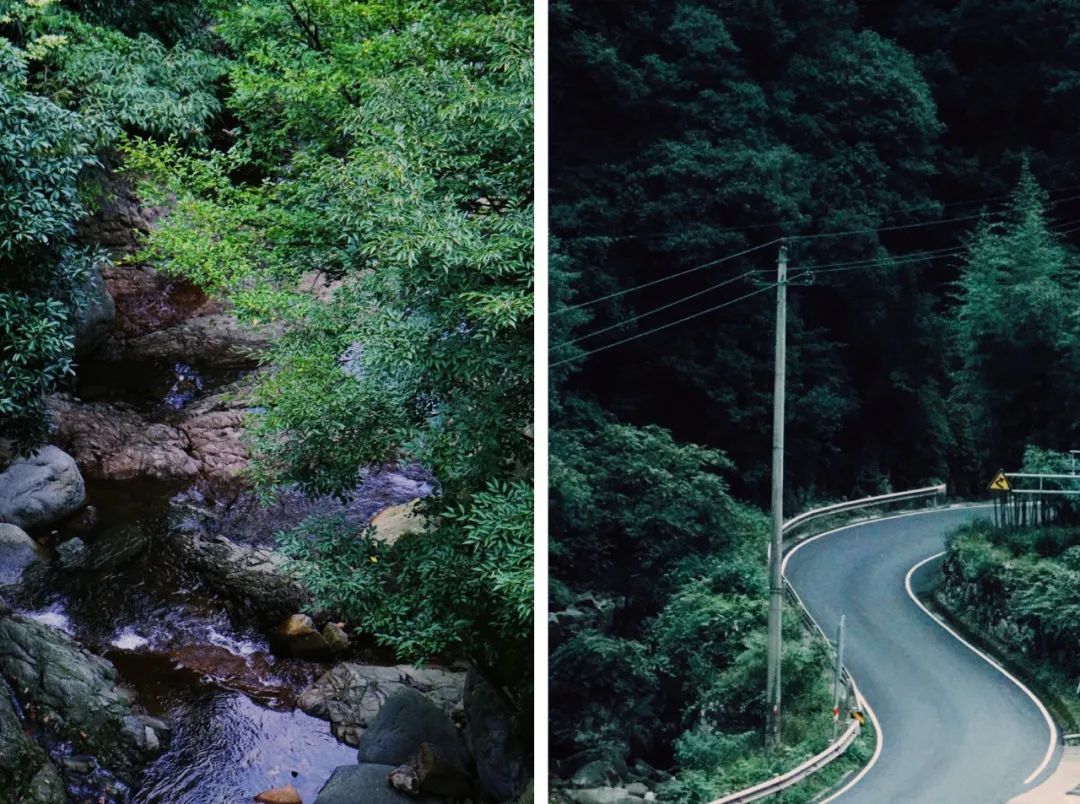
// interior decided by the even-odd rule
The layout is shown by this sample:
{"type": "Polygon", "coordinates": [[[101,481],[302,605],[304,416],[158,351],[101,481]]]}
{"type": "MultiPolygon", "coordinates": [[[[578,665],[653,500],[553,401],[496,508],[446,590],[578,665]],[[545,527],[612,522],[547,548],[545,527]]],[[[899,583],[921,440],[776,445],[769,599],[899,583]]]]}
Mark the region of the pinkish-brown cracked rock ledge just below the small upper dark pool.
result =
{"type": "Polygon", "coordinates": [[[83,403],[70,394],[53,394],[48,402],[57,443],[92,478],[231,479],[247,466],[242,393],[211,397],[172,424],[150,421],[126,405],[83,403]]]}

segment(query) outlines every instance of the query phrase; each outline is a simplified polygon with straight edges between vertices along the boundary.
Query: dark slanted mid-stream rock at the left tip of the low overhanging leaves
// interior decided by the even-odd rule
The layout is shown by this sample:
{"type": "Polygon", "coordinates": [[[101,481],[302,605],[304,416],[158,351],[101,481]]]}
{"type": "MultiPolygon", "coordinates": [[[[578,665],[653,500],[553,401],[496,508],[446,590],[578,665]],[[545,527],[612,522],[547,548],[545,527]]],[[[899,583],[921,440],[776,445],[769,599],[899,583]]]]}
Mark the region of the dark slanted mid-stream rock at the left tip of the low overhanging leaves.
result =
{"type": "Polygon", "coordinates": [[[202,531],[173,530],[168,546],[219,593],[243,603],[265,624],[303,607],[308,592],[288,575],[281,553],[202,531]]]}

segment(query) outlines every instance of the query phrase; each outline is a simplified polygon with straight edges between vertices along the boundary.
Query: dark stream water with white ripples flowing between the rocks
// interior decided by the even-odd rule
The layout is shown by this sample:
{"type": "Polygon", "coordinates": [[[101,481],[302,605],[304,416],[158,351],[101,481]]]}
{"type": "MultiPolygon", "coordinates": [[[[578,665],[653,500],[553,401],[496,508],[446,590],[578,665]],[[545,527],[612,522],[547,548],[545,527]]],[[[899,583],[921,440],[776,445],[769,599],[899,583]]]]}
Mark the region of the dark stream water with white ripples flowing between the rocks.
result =
{"type": "MultiPolygon", "coordinates": [[[[178,362],[89,362],[72,390],[84,402],[122,403],[167,421],[241,375],[178,362]]],[[[112,661],[147,711],[174,731],[167,750],[134,789],[91,777],[85,789],[69,788],[71,800],[233,804],[291,782],[303,801],[313,801],[335,767],[356,761],[356,750],[338,742],[327,722],[295,708],[299,692],[330,665],[274,656],[249,617],[172,550],[159,549],[171,500],[218,506],[217,524],[230,537],[270,544],[275,530],[316,509],[337,507],[366,522],[388,506],[430,493],[430,478],[415,467],[372,471],[348,506],[286,493],[269,510],[243,495],[226,495],[222,504],[190,482],[87,479],[86,486],[94,521],[77,517],[32,535],[50,550],[79,535],[94,551],[94,566],[64,571],[54,559],[12,603],[112,661]]],[[[393,664],[374,647],[351,660],[393,664]]],[[[63,746],[51,748],[64,754],[63,746]]]]}

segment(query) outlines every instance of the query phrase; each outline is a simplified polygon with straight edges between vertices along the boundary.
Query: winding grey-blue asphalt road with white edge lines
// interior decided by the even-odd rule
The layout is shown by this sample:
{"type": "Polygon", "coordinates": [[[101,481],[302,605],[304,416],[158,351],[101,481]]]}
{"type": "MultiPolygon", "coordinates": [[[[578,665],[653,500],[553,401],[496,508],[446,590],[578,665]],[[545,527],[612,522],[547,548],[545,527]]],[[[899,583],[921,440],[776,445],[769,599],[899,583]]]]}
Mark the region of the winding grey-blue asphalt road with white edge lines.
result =
{"type": "MultiPolygon", "coordinates": [[[[826,633],[847,615],[845,664],[880,735],[878,755],[837,804],[1007,802],[1056,764],[1056,732],[1040,705],[905,587],[914,566],[944,550],[948,531],[985,515],[947,509],[882,519],[788,553],[787,578],[826,633]]],[[[939,566],[933,560],[912,574],[916,593],[939,566]]]]}

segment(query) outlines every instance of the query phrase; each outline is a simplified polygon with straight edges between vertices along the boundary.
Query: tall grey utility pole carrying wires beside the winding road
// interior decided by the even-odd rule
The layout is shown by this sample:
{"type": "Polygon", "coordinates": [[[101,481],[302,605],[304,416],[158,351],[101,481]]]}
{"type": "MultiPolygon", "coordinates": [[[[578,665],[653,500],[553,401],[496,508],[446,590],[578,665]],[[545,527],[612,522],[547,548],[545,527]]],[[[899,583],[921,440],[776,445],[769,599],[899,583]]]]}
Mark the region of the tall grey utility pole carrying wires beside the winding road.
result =
{"type": "Polygon", "coordinates": [[[780,745],[780,653],[784,607],[781,573],[784,526],[784,372],[787,352],[787,244],[777,257],[777,360],[772,391],[772,539],[769,545],[769,653],[765,697],[769,708],[765,743],[780,745]]]}

